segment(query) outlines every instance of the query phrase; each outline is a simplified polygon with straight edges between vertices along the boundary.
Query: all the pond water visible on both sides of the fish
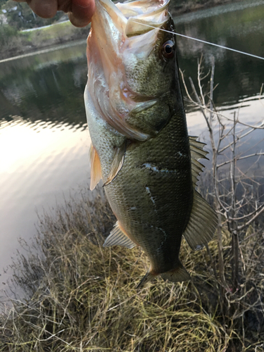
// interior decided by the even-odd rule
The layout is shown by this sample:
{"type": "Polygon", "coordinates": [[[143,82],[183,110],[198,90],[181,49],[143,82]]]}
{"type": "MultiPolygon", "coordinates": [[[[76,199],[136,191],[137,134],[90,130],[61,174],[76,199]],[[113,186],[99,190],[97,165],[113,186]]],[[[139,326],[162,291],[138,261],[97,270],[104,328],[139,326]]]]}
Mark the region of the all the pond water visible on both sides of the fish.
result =
{"type": "MultiPolygon", "coordinates": [[[[176,16],[175,24],[178,33],[264,57],[263,18],[264,0],[244,1],[176,16]]],[[[177,46],[180,68],[194,80],[201,55],[205,72],[215,56],[215,105],[226,115],[239,107],[244,121],[264,119],[263,60],[182,37],[177,37],[177,46]]],[[[89,182],[85,49],[81,42],[0,62],[2,289],[18,238],[29,240],[36,232],[37,212],[52,211],[89,182]]],[[[201,134],[205,130],[201,113],[186,108],[189,133],[201,134]]],[[[261,144],[264,149],[263,134],[258,131],[252,137],[252,153],[261,144]]]]}

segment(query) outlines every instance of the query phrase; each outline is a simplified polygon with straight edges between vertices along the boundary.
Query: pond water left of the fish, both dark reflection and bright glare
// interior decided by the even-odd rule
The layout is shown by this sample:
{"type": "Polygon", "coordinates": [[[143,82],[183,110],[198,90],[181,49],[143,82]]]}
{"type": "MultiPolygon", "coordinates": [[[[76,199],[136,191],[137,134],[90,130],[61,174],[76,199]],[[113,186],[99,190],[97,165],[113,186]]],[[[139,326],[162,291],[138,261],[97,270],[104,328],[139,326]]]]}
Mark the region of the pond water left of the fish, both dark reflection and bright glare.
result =
{"type": "MultiPolygon", "coordinates": [[[[89,133],[83,91],[85,43],[1,63],[1,281],[18,237],[35,232],[36,209],[87,185],[89,133]],[[4,151],[4,153],[3,153],[4,151]]],[[[4,285],[0,285],[4,288],[4,285]]]]}

